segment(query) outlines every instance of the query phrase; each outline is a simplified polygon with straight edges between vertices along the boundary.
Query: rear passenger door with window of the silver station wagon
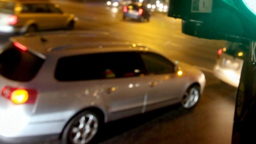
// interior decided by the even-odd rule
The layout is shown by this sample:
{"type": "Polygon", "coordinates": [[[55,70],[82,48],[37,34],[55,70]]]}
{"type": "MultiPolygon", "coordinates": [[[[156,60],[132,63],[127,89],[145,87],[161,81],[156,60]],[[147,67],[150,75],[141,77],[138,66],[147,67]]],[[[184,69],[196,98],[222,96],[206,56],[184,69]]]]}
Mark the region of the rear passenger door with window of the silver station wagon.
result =
{"type": "Polygon", "coordinates": [[[106,101],[109,120],[141,113],[147,77],[139,54],[115,52],[102,54],[103,76],[100,81],[106,101]]]}

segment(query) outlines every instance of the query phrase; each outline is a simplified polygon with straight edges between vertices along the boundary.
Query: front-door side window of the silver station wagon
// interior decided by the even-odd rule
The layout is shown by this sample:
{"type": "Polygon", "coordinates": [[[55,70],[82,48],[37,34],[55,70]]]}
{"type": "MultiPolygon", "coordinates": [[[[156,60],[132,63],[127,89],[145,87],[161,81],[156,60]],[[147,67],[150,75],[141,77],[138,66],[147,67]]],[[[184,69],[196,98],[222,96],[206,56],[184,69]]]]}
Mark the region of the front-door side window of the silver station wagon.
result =
{"type": "Polygon", "coordinates": [[[148,74],[168,74],[175,71],[175,65],[159,54],[145,52],[141,53],[141,58],[148,74]]]}

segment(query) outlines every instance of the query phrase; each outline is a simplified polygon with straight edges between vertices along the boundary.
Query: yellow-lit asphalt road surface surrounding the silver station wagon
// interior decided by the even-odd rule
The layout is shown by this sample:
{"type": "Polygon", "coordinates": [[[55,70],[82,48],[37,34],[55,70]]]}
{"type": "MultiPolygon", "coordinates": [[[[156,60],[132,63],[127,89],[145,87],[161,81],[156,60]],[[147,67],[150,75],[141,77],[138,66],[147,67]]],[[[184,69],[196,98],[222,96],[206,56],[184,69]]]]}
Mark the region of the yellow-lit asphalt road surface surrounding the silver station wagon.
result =
{"type": "MultiPolygon", "coordinates": [[[[53,2],[60,4],[64,12],[76,15],[75,31],[104,31],[120,40],[147,45],[173,60],[200,68],[206,77],[204,93],[194,109],[170,106],[110,122],[101,133],[100,144],[231,143],[237,88],[212,74],[217,51],[226,41],[184,35],[182,20],[168,17],[167,13],[152,12],[149,22],[138,22],[123,20],[122,7],[110,7],[104,2],[53,2]]],[[[7,38],[2,37],[3,44],[7,38]]],[[[49,138],[36,144],[60,143],[49,138]]]]}

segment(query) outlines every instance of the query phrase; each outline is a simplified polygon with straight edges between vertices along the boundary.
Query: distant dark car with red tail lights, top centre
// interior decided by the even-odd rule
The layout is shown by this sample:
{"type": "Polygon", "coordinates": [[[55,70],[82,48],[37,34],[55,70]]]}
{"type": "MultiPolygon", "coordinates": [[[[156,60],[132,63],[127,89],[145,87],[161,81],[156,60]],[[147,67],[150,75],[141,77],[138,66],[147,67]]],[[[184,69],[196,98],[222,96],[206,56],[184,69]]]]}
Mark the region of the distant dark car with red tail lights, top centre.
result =
{"type": "Polygon", "coordinates": [[[131,4],[127,4],[123,8],[123,19],[125,20],[127,17],[131,19],[140,20],[140,22],[144,22],[145,20],[150,20],[150,9],[148,9],[147,4],[133,2],[131,4]]]}

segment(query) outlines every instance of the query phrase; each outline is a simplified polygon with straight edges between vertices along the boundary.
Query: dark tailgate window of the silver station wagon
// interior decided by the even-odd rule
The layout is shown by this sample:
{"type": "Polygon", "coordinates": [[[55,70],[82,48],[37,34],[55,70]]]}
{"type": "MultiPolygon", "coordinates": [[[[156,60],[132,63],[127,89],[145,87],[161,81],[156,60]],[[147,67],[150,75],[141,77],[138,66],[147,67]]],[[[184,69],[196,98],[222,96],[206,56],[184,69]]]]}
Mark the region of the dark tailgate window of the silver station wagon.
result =
{"type": "Polygon", "coordinates": [[[5,45],[0,54],[0,74],[13,81],[30,81],[36,76],[44,59],[22,51],[12,43],[5,45]]]}

